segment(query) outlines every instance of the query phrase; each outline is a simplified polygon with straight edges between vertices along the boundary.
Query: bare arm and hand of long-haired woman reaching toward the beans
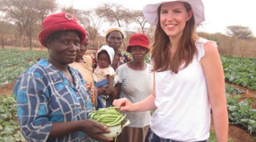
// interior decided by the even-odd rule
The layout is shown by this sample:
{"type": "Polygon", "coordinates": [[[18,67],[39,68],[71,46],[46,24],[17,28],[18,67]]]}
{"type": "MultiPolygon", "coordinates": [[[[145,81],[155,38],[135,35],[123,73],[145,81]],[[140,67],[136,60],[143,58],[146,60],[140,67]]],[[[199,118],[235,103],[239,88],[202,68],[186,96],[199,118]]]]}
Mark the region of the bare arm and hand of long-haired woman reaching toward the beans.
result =
{"type": "Polygon", "coordinates": [[[129,112],[141,112],[141,111],[149,111],[156,108],[155,106],[155,98],[156,98],[156,89],[155,89],[155,73],[154,73],[154,84],[152,94],[143,99],[138,103],[132,104],[127,98],[115,99],[113,102],[113,106],[116,106],[121,111],[129,111],[129,112]]]}

